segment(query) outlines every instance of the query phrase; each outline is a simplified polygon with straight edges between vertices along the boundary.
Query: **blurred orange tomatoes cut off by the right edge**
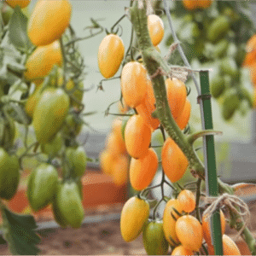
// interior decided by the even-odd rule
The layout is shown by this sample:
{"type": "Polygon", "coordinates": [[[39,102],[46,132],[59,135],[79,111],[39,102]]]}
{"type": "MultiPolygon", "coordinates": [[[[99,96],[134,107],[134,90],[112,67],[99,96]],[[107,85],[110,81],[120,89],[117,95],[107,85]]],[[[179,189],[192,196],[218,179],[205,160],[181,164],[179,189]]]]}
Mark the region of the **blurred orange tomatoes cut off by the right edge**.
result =
{"type": "Polygon", "coordinates": [[[243,61],[243,66],[250,72],[253,84],[253,108],[256,108],[256,35],[247,42],[247,55],[243,61]]]}

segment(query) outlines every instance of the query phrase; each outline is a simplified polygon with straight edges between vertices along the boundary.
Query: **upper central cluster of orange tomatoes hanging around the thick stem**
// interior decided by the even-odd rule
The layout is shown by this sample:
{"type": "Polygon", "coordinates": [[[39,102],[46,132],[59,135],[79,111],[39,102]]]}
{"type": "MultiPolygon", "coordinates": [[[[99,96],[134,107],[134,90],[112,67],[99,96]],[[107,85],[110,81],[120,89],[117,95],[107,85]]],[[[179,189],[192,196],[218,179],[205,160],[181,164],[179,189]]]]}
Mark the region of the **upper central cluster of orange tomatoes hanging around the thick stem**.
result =
{"type": "MultiPolygon", "coordinates": [[[[148,15],[148,32],[153,45],[159,44],[164,35],[164,27],[162,20],[157,15],[148,15]]],[[[125,47],[119,36],[109,34],[103,38],[99,47],[98,63],[105,78],[109,79],[117,73],[124,54],[125,47]]],[[[158,169],[158,157],[154,149],[150,147],[150,142],[152,133],[160,127],[160,121],[152,116],[155,110],[154,89],[143,63],[139,61],[125,63],[120,84],[125,105],[135,109],[137,113],[125,123],[124,137],[121,137],[121,121],[115,121],[114,126],[118,126],[119,130],[113,129],[108,137],[107,148],[113,148],[111,145],[116,143],[115,148],[119,148],[120,155],[125,152],[126,148],[131,156],[131,186],[140,191],[148,187],[158,169]],[[113,142],[114,140],[115,142],[113,142]]],[[[188,125],[191,110],[186,86],[178,79],[166,79],[166,92],[172,116],[178,127],[183,130],[188,125]]],[[[104,151],[101,157],[102,168],[108,173],[111,171],[108,171],[110,168],[107,163],[112,162],[109,159],[110,154],[104,151]],[[109,156],[107,157],[107,155],[109,156]]],[[[168,138],[163,146],[162,165],[166,176],[172,182],[177,182],[183,177],[188,166],[185,155],[171,138],[168,138]]],[[[126,176],[124,170],[119,170],[126,176]]]]}

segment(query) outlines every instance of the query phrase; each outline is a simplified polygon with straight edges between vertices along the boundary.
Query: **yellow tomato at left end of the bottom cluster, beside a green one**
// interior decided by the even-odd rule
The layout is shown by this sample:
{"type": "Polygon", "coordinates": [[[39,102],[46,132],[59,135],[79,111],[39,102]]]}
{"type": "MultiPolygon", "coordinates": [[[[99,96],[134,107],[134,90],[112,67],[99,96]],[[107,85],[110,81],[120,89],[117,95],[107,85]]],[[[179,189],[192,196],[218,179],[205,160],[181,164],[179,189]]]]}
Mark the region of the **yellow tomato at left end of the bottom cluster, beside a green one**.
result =
{"type": "Polygon", "coordinates": [[[125,202],[121,212],[120,230],[125,241],[133,241],[143,231],[143,225],[148,220],[149,205],[147,201],[131,197],[125,202]]]}

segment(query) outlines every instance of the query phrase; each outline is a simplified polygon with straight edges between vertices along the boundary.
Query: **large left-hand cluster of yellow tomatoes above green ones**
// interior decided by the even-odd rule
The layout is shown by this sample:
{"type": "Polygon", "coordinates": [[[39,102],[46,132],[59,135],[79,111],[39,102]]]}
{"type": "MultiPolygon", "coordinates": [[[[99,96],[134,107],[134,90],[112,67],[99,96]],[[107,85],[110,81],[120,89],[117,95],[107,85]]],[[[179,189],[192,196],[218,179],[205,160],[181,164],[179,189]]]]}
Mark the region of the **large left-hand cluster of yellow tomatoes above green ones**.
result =
{"type": "MultiPolygon", "coordinates": [[[[4,4],[14,8],[13,15],[17,15],[29,3],[11,0],[4,4]]],[[[17,104],[22,106],[19,113],[23,119],[11,116],[7,108],[9,102],[4,105],[1,101],[0,197],[9,200],[15,195],[22,159],[27,154],[39,154],[39,164],[32,170],[27,184],[32,211],[50,205],[58,224],[79,228],[84,218],[82,177],[88,158],[76,142],[83,125],[84,67],[77,46],[67,45],[75,37],[71,28],[67,30],[71,14],[72,6],[67,0],[39,0],[32,15],[28,19],[23,17],[27,26],[22,36],[28,41],[26,46],[31,47],[26,49],[26,58],[22,57],[25,68],[19,79],[24,81],[27,90],[21,94],[25,101],[17,104]],[[26,151],[20,157],[14,154],[14,118],[26,125],[27,131],[28,125],[32,125],[36,137],[35,147],[27,146],[25,138],[26,151]],[[29,152],[31,149],[33,152],[29,152]]],[[[5,18],[4,22],[10,24],[11,20],[7,19],[10,17],[5,15],[5,18]]],[[[1,86],[1,98],[11,95],[11,82],[1,86]]]]}

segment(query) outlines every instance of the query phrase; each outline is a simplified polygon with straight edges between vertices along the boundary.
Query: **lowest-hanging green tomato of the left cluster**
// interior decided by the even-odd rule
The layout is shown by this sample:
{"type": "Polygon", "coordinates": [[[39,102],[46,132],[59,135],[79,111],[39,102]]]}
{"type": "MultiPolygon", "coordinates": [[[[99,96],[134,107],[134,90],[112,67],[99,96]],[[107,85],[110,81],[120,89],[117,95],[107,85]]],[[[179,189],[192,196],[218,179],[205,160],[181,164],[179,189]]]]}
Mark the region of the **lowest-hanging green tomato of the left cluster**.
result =
{"type": "Polygon", "coordinates": [[[79,228],[84,219],[84,207],[79,195],[77,183],[61,183],[56,195],[57,207],[65,222],[73,228],[79,228]]]}

